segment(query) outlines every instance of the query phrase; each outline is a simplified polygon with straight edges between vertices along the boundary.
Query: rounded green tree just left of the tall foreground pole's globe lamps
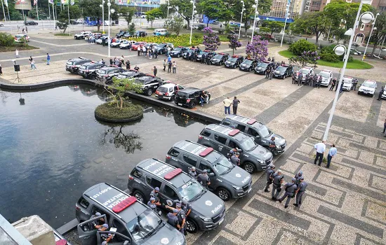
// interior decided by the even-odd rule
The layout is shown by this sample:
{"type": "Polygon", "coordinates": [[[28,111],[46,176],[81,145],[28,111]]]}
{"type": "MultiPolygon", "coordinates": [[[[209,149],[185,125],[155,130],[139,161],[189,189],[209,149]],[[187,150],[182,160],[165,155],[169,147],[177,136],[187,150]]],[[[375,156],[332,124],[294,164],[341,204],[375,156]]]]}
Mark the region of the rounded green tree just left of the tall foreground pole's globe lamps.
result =
{"type": "Polygon", "coordinates": [[[319,36],[326,31],[330,25],[326,25],[326,15],[323,12],[304,13],[299,16],[291,25],[295,33],[302,33],[305,29],[310,29],[315,36],[315,43],[318,45],[319,36]]]}

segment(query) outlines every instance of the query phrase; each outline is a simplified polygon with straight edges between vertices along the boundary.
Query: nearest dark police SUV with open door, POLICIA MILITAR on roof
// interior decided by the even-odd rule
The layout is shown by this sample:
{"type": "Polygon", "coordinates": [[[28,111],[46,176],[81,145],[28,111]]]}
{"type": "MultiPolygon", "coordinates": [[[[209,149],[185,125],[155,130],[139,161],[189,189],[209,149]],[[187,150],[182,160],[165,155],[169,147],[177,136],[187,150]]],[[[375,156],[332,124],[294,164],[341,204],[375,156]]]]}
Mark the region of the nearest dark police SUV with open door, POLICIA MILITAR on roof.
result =
{"type": "Polygon", "coordinates": [[[152,209],[108,183],[88,188],[75,207],[83,245],[100,245],[110,236],[108,244],[186,244],[184,235],[152,209]],[[95,225],[105,225],[109,230],[95,225]]]}

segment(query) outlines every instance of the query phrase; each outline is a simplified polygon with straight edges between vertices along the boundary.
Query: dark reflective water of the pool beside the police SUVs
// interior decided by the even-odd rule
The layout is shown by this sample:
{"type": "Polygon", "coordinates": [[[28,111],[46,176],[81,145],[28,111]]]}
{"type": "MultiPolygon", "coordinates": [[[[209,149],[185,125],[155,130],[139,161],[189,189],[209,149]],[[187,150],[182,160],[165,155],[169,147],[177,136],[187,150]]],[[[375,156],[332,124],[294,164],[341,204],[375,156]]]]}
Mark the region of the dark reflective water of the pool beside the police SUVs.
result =
{"type": "Polygon", "coordinates": [[[94,109],[107,94],[86,85],[21,96],[25,105],[19,93],[0,90],[0,213],[11,222],[37,214],[58,228],[75,218],[75,202],[88,187],[126,189],[138,162],[165,160],[176,141],[197,141],[204,127],[147,104],[136,123],[101,124],[94,109]]]}

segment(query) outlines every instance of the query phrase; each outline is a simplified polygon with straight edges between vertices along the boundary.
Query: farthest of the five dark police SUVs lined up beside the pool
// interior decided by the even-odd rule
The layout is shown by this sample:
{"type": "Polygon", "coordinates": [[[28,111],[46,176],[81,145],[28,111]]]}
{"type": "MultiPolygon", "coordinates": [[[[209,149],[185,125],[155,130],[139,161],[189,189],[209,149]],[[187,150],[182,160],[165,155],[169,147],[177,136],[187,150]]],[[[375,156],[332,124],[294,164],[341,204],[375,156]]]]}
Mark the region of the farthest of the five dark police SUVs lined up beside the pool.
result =
{"type": "Polygon", "coordinates": [[[269,148],[269,141],[274,136],[276,138],[274,155],[284,153],[286,139],[279,134],[274,134],[269,128],[253,118],[229,115],[222,119],[220,124],[227,127],[234,127],[237,130],[244,132],[244,134],[248,134],[255,139],[256,144],[264,146],[267,149],[269,148]]]}

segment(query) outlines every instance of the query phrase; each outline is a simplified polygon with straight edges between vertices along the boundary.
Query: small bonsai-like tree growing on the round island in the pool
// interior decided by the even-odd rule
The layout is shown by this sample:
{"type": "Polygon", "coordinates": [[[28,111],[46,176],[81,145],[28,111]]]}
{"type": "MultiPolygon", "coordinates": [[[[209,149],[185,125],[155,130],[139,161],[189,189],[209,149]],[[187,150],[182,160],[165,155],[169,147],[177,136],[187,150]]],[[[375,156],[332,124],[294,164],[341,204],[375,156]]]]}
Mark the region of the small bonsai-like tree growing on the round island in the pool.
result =
{"type": "Polygon", "coordinates": [[[108,87],[105,84],[105,90],[112,95],[113,102],[117,104],[117,109],[122,110],[126,97],[124,96],[128,91],[142,92],[142,85],[135,83],[133,78],[117,79],[112,78],[112,85],[108,87]]]}

